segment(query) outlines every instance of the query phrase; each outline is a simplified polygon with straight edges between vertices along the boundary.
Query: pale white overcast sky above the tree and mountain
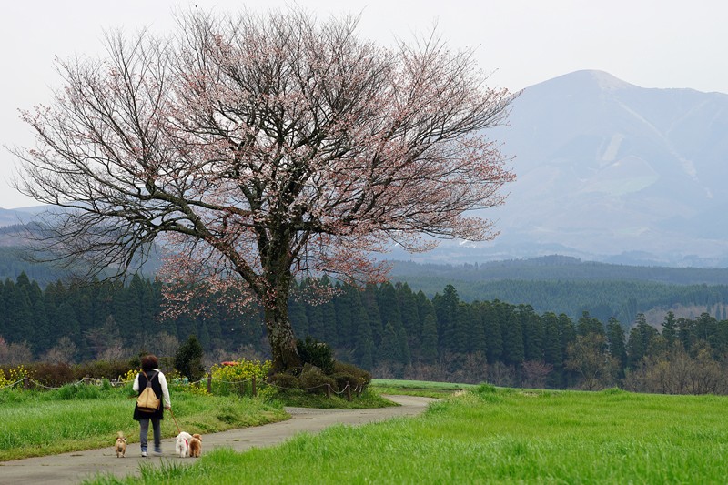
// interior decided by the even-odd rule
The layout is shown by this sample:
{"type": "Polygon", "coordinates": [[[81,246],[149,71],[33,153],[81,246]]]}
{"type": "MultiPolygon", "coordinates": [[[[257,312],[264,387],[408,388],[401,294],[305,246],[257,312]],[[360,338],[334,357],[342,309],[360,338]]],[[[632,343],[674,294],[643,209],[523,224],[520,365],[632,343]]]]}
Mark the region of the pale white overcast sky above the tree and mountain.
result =
{"type": "MultiPolygon", "coordinates": [[[[47,102],[58,86],[56,56],[103,54],[105,30],[163,33],[175,9],[267,9],[290,1],[24,0],[0,10],[0,146],[28,146],[18,108],[47,102]]],[[[395,36],[439,34],[455,49],[474,48],[492,86],[518,90],[580,69],[600,69],[643,87],[728,93],[728,2],[724,0],[299,0],[319,17],[361,13],[359,33],[390,44],[395,36]]],[[[15,157],[0,147],[0,207],[35,201],[10,187],[15,157]]],[[[518,154],[516,154],[518,155],[518,154]]]]}

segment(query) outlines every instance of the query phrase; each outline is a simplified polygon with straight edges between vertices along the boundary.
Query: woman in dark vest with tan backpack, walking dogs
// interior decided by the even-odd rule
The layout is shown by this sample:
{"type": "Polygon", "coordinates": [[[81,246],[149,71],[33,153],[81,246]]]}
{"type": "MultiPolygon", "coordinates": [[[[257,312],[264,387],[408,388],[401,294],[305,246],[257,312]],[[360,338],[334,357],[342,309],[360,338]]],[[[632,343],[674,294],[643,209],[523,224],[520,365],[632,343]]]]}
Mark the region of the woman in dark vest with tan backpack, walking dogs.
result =
{"type": "Polygon", "coordinates": [[[139,444],[142,448],[142,456],[147,456],[147,434],[149,433],[149,422],[152,423],[154,429],[154,452],[158,455],[162,453],[162,429],[161,420],[164,419],[164,409],[172,409],[169,400],[169,389],[167,388],[167,378],[159,370],[159,359],[154,355],[146,355],[142,357],[142,371],[136,374],[134,385],[132,388],[137,394],[141,394],[142,390],[147,387],[147,382],[152,383],[160,406],[154,412],[148,412],[134,408],[134,419],[139,421],[139,444]],[[162,407],[164,406],[164,409],[162,407]]]}

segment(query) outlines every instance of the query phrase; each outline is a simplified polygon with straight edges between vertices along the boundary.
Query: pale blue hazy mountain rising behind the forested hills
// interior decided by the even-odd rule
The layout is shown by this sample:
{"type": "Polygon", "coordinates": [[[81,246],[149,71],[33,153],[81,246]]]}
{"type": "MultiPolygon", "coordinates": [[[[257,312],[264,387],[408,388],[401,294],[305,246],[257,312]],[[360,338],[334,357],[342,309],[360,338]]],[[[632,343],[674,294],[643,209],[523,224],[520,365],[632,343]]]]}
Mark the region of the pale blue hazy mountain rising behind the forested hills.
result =
{"type": "MultiPolygon", "coordinates": [[[[488,136],[518,177],[505,206],[484,213],[501,236],[393,258],[728,266],[728,95],[577,71],[526,88],[510,126],[488,136]]],[[[0,209],[0,225],[27,216],[0,209]]]]}

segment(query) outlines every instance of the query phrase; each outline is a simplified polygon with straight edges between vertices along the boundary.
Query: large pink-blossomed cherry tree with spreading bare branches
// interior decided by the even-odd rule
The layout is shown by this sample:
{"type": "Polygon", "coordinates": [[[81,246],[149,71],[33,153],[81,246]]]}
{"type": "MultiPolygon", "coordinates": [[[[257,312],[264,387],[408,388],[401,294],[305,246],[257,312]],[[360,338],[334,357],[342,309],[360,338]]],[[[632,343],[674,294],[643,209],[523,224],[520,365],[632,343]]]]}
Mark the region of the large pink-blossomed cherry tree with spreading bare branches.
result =
{"type": "Polygon", "coordinates": [[[495,236],[468,211],[501,205],[513,179],[483,135],[513,95],[471,53],[435,35],[385,48],[356,17],[300,9],[178,20],[169,38],[108,35],[105,58],[59,61],[54,101],[24,113],[37,141],[15,149],[16,187],[62,209],[46,254],[120,276],[171,248],[172,307],[200,288],[258,302],[285,370],[297,276],[376,282],[392,245],[495,236]]]}

